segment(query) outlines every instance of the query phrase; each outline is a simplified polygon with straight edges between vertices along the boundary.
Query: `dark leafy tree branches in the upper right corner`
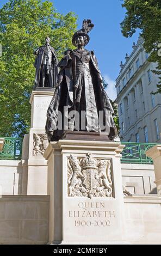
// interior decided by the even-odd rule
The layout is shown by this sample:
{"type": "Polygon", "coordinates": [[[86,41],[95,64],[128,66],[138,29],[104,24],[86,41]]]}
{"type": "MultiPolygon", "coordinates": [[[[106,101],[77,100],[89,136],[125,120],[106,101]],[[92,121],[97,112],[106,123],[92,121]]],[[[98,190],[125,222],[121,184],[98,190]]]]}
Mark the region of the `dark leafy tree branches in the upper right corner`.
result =
{"type": "Polygon", "coordinates": [[[122,34],[127,38],[136,29],[141,29],[146,52],[151,53],[148,61],[158,62],[155,74],[159,75],[157,93],[161,93],[161,1],[160,0],[124,0],[122,7],[127,10],[125,19],[121,23],[122,34]],[[158,48],[159,47],[159,48],[158,48]]]}

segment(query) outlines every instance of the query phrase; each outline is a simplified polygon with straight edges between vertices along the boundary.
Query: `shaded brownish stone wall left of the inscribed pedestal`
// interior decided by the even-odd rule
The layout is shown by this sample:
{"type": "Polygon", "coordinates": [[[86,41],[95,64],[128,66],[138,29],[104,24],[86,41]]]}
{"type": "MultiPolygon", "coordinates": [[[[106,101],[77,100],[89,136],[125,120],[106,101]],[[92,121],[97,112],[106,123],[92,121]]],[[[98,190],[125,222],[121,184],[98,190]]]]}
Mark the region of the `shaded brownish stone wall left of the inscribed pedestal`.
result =
{"type": "Polygon", "coordinates": [[[0,244],[47,244],[48,196],[0,198],[0,244]]]}

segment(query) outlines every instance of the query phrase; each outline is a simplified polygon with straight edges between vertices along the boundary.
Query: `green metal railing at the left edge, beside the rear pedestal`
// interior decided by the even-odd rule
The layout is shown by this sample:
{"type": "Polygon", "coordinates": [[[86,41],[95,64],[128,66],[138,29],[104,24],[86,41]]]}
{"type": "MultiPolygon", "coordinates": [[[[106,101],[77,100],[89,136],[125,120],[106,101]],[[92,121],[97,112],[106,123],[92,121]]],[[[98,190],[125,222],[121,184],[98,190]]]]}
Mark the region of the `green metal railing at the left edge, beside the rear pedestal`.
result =
{"type": "Polygon", "coordinates": [[[21,160],[22,141],[22,138],[5,137],[0,160],[21,160]]]}

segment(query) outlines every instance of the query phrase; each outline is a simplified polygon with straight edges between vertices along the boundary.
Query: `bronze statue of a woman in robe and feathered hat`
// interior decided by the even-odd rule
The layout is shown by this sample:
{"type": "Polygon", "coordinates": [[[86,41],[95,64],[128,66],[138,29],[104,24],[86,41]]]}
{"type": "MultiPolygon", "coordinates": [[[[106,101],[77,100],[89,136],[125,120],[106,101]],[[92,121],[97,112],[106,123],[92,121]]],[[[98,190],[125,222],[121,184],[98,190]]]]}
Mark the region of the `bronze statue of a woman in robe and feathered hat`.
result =
{"type": "Polygon", "coordinates": [[[58,64],[57,88],[47,111],[48,141],[58,141],[67,130],[106,132],[110,140],[117,135],[114,111],[103,87],[97,59],[93,51],[84,48],[93,27],[91,20],[83,21],[83,28],[72,38],[76,50],[66,51],[58,64]]]}

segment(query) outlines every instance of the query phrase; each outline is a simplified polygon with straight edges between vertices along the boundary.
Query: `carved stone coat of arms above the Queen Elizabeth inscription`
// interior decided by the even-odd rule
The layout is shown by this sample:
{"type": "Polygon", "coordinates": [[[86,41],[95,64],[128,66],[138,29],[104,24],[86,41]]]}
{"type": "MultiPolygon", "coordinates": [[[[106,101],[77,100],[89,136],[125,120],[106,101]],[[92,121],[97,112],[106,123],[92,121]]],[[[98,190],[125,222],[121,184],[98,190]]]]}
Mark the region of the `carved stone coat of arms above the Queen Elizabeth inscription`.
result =
{"type": "Polygon", "coordinates": [[[83,159],[68,159],[68,195],[70,197],[113,197],[109,160],[98,160],[91,153],[83,159]]]}

